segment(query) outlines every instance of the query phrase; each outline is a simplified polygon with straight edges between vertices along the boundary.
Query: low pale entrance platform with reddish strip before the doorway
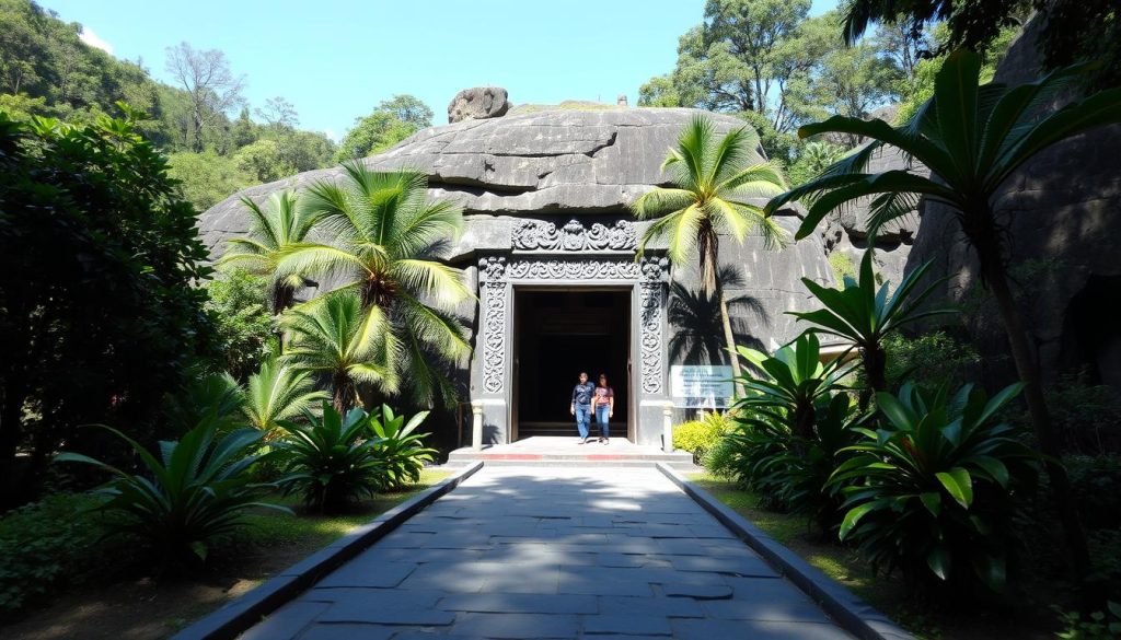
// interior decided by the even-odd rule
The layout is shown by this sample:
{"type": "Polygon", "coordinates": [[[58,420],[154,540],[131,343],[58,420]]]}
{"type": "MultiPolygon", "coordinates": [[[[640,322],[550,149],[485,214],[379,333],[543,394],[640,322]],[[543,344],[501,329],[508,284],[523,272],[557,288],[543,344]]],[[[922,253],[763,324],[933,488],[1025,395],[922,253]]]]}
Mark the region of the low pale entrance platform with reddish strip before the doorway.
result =
{"type": "Polygon", "coordinates": [[[606,445],[590,438],[582,445],[575,435],[532,436],[508,445],[485,446],[482,451],[457,448],[447,456],[447,466],[463,466],[480,460],[488,466],[654,466],[663,462],[679,471],[697,471],[693,454],[688,452],[666,453],[627,438],[611,438],[611,444],[606,445]]]}

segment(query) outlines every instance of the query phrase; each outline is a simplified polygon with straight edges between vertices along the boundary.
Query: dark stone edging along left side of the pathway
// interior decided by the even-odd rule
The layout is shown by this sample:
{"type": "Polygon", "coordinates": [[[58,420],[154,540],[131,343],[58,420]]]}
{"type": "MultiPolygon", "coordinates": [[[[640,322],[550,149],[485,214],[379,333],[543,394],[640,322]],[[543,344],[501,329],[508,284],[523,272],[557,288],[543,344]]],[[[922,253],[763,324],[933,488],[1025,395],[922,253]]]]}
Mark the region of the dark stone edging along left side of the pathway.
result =
{"type": "Polygon", "coordinates": [[[315,551],[311,556],[269,578],[257,588],[228,603],[222,609],[195,621],[172,637],[172,640],[226,640],[257,624],[261,619],[314,585],[328,573],[358,556],[409,518],[419,513],[442,495],[460,485],[483,467],[482,461],[460,470],[419,495],[393,507],[370,522],[315,551]]]}

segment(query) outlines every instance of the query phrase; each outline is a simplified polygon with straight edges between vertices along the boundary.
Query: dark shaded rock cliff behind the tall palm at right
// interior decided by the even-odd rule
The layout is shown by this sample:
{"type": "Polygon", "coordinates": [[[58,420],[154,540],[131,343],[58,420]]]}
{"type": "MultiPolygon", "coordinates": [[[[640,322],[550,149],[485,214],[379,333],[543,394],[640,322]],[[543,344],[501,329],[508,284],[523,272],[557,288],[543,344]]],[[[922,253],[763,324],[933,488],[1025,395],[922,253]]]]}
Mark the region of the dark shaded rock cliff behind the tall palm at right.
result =
{"type": "MultiPolygon", "coordinates": [[[[999,66],[995,81],[1016,84],[1037,77],[1036,50],[1029,27],[999,66]]],[[[1121,303],[1119,148],[1121,126],[1055,145],[1017,171],[995,200],[1008,224],[1009,262],[1045,380],[1084,368],[1092,380],[1121,388],[1121,330],[1105,312],[1121,303]]],[[[908,269],[933,259],[938,271],[952,276],[948,297],[976,300],[983,295],[973,256],[953,212],[924,203],[908,269]]],[[[991,304],[982,304],[969,324],[982,355],[1007,353],[991,304]]],[[[1001,371],[993,371],[997,378],[1013,374],[1007,359],[985,362],[1003,363],[1001,371]]]]}

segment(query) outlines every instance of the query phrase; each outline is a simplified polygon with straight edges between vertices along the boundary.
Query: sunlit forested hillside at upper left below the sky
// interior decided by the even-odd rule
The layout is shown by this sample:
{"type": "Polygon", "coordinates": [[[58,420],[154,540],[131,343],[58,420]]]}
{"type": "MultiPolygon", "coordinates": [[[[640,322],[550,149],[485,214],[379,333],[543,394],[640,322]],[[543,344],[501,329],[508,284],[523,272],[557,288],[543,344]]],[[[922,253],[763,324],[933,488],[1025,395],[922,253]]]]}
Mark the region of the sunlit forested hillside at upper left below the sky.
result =
{"type": "Polygon", "coordinates": [[[432,123],[432,110],[397,95],[355,120],[335,145],[299,129],[284,96],[253,105],[247,78],[221,50],[168,43],[159,61],[174,85],[154,80],[145,61],[121,61],[86,45],[82,26],[30,0],[0,0],[0,109],[89,122],[120,115],[115,102],[143,111],[145,137],[169,157],[173,177],[200,211],[247,186],[271,182],[392,146],[432,123]]]}

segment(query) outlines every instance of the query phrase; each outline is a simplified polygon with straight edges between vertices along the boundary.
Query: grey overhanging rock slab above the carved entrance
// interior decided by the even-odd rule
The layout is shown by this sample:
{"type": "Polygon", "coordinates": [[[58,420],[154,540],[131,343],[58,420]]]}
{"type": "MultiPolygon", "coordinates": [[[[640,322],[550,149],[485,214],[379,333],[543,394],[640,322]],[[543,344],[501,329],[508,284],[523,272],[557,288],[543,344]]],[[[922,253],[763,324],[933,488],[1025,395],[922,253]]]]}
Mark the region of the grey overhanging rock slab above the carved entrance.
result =
{"type": "MultiPolygon", "coordinates": [[[[469,217],[618,212],[654,185],[668,184],[660,168],[666,150],[695,113],[611,106],[464,120],[418,131],[363,161],[376,170],[423,171],[429,195],[456,202],[469,217]]],[[[736,118],[710,115],[717,131],[743,127],[736,118]]],[[[202,215],[203,240],[216,257],[224,240],[245,232],[242,196],[262,202],[340,171],[306,171],[234,194],[202,215]]]]}

